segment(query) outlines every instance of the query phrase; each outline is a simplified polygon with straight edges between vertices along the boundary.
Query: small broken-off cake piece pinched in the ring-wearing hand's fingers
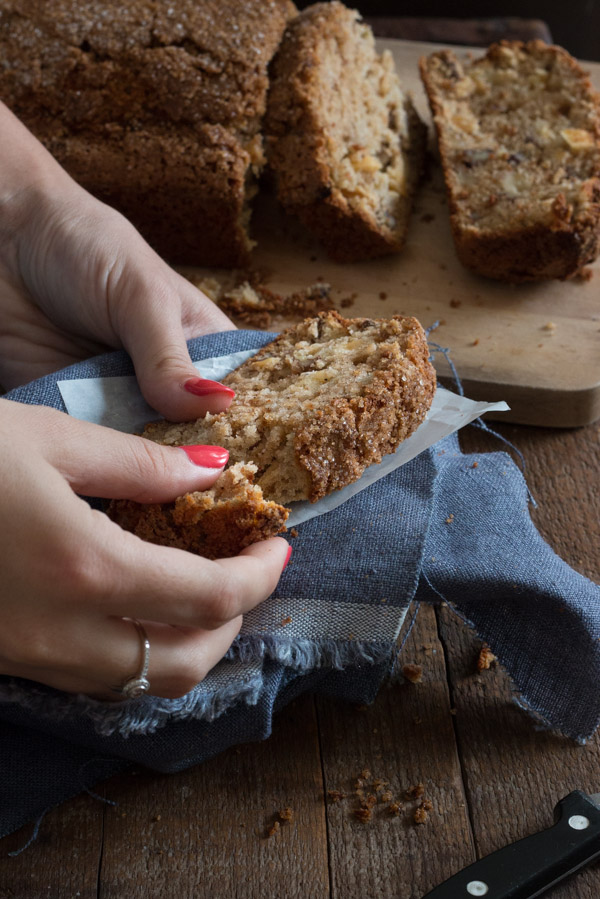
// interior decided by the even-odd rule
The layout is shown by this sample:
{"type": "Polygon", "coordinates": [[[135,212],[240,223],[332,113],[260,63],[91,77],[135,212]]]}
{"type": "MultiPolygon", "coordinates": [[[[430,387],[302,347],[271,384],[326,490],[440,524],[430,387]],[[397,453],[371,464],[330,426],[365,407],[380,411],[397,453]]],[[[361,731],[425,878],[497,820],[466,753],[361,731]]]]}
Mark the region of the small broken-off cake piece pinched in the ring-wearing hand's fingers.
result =
{"type": "Polygon", "coordinates": [[[186,493],[174,503],[113,500],[108,514],[149,543],[207,559],[236,556],[251,543],[285,531],[289,515],[289,509],[265,500],[252,483],[255,472],[255,465],[238,463],[224,471],[210,490],[186,493]]]}

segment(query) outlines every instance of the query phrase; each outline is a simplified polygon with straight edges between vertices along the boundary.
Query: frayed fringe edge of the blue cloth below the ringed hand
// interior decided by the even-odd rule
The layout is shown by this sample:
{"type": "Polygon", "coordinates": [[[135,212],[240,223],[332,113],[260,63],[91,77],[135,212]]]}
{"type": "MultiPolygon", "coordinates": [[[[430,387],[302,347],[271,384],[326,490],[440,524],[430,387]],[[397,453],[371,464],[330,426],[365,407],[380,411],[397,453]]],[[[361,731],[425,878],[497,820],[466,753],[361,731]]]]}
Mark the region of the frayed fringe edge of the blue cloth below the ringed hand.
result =
{"type": "MultiPolygon", "coordinates": [[[[319,668],[343,670],[361,665],[377,665],[393,661],[394,643],[367,641],[320,642],[316,640],[281,640],[271,637],[245,636],[236,641],[226,658],[241,662],[269,659],[298,674],[319,668]]],[[[42,719],[55,722],[90,720],[100,736],[115,734],[123,738],[155,733],[169,722],[194,719],[214,721],[238,703],[256,705],[264,686],[262,669],[231,683],[202,691],[201,685],[179,699],[146,696],[122,703],[105,703],[83,694],[50,693],[43,687],[24,686],[9,680],[0,686],[0,705],[15,703],[42,719]]]]}

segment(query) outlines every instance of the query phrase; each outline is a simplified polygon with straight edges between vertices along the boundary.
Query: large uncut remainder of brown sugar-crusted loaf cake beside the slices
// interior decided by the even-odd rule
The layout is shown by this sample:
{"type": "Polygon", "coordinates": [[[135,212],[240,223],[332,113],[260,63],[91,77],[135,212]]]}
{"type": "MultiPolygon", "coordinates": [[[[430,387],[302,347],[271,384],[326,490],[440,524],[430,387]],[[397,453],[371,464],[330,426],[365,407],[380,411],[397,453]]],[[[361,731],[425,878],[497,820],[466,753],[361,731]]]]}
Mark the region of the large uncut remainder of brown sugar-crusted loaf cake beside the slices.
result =
{"type": "Polygon", "coordinates": [[[288,0],[0,0],[0,95],[169,261],[243,265],[267,67],[294,13],[288,0]]]}

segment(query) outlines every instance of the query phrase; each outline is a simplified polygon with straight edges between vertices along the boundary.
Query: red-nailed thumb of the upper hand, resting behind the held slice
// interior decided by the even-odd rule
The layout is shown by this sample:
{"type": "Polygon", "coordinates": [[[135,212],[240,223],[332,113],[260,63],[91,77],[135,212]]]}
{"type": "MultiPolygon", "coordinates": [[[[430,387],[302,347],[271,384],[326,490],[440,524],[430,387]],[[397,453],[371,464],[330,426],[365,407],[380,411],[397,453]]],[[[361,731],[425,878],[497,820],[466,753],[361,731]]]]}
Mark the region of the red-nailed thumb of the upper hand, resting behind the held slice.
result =
{"type": "Polygon", "coordinates": [[[172,295],[165,297],[164,302],[154,297],[152,314],[146,311],[137,318],[127,350],[144,398],[171,421],[223,412],[235,396],[231,388],[202,378],[193,365],[183,332],[181,306],[173,302],[172,295]]]}

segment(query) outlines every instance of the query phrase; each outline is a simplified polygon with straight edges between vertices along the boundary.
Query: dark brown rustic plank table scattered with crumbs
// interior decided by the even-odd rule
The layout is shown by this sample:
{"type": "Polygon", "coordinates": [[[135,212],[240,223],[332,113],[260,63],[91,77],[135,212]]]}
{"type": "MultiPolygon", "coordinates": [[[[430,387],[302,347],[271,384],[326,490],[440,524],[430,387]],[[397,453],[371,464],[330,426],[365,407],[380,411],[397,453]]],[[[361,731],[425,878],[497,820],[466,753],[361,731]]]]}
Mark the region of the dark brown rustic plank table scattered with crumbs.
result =
{"type": "MultiPolygon", "coordinates": [[[[600,580],[598,423],[578,430],[495,425],[523,453],[532,516],[573,568],[600,580]]],[[[467,452],[493,451],[480,431],[467,452]]],[[[306,696],[265,743],[178,775],[137,772],[73,799],[0,841],[0,899],[419,899],[483,854],[550,826],[556,801],[600,790],[600,742],[536,729],[499,667],[477,672],[476,636],[448,609],[422,608],[404,650],[420,683],[383,689],[369,708],[306,696]],[[368,768],[403,808],[354,815],[368,768]],[[405,791],[422,783],[432,810],[414,820],[405,791]],[[329,791],[347,794],[334,802],[329,791]],[[268,836],[279,810],[293,821],[268,836]]],[[[588,868],[551,894],[597,899],[588,868]]]]}

